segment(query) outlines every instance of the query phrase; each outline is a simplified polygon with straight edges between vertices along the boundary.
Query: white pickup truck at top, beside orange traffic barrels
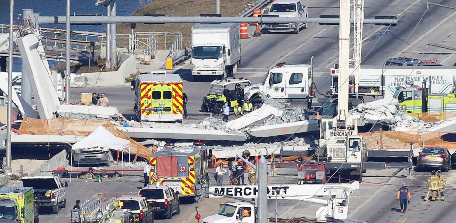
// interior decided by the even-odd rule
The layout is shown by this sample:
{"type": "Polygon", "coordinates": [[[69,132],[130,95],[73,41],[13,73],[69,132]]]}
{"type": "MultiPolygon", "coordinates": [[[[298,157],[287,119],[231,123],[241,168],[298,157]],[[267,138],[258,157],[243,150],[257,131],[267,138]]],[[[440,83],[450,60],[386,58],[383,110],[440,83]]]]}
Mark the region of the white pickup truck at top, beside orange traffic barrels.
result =
{"type": "MultiPolygon", "coordinates": [[[[272,3],[269,11],[264,10],[266,17],[284,17],[284,18],[307,18],[307,6],[303,5],[300,0],[276,0],[272,3]]],[[[281,24],[267,24],[266,32],[290,32],[294,34],[299,33],[299,28],[307,29],[307,24],[299,23],[281,23],[281,24]]]]}

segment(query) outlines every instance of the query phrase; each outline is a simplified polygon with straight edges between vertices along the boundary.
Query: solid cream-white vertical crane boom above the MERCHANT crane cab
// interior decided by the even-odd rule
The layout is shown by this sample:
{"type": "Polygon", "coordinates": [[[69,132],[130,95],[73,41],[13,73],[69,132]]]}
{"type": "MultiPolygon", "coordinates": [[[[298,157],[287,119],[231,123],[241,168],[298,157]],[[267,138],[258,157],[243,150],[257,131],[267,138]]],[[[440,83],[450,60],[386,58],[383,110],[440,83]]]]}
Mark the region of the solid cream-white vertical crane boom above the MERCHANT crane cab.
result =
{"type": "MultiPolygon", "coordinates": [[[[339,11],[339,80],[337,120],[346,121],[348,116],[348,61],[350,57],[350,1],[340,0],[339,11]]],[[[351,121],[346,123],[351,125],[351,121]]]]}

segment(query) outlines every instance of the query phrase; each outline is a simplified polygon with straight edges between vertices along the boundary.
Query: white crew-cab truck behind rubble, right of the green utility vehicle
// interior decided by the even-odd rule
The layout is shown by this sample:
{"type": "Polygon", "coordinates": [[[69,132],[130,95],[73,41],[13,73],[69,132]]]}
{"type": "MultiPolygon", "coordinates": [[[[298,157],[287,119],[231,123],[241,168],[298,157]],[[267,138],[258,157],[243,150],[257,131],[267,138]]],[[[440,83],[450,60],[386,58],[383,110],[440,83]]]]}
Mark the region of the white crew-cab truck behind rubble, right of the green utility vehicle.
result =
{"type": "Polygon", "coordinates": [[[263,104],[260,93],[274,99],[308,99],[314,95],[312,89],[311,65],[278,63],[268,71],[263,82],[244,88],[244,100],[250,99],[257,109],[263,104]]]}

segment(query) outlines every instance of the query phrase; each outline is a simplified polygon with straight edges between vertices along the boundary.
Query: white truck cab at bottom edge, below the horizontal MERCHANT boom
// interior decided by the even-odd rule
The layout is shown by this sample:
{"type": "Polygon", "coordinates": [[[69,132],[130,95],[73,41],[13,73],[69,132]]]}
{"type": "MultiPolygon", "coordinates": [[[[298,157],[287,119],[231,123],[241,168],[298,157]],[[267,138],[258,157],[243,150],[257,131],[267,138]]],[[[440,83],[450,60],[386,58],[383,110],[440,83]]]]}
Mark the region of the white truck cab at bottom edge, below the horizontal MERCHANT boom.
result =
{"type": "Polygon", "coordinates": [[[247,202],[227,202],[220,205],[217,214],[204,218],[203,223],[255,223],[255,207],[247,202]]]}

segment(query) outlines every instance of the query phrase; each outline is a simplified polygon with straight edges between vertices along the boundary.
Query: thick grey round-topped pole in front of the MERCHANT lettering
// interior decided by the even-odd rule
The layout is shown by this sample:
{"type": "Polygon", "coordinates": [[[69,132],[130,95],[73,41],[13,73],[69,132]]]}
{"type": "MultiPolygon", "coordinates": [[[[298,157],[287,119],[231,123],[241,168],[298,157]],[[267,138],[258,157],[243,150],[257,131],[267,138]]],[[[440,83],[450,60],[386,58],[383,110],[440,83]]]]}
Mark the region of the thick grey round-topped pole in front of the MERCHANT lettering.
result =
{"type": "Polygon", "coordinates": [[[267,191],[267,165],[264,156],[260,157],[257,164],[258,199],[257,222],[269,222],[268,219],[268,191],[267,191]]]}

